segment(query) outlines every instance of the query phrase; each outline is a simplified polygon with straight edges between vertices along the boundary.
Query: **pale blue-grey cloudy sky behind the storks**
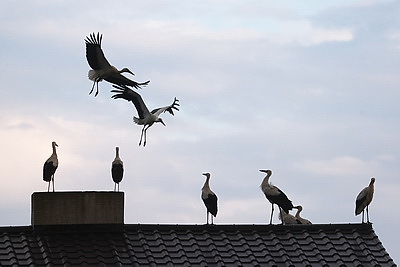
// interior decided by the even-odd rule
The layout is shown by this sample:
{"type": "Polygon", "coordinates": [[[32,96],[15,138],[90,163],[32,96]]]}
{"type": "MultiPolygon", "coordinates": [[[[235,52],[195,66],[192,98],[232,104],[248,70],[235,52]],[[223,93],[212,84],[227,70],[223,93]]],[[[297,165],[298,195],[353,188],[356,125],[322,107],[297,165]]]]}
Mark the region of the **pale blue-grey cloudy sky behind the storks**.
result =
{"type": "MultiPolygon", "coordinates": [[[[264,173],[314,224],[359,223],[355,198],[376,177],[370,220],[400,262],[400,2],[2,1],[0,225],[30,225],[47,190],[111,191],[120,147],[125,223],[204,224],[204,172],[216,224],[267,224],[264,173]],[[146,147],[131,103],[92,82],[84,39],[128,67],[149,109],[180,101],[146,147]]],[[[274,223],[280,223],[277,214],[274,223]]]]}

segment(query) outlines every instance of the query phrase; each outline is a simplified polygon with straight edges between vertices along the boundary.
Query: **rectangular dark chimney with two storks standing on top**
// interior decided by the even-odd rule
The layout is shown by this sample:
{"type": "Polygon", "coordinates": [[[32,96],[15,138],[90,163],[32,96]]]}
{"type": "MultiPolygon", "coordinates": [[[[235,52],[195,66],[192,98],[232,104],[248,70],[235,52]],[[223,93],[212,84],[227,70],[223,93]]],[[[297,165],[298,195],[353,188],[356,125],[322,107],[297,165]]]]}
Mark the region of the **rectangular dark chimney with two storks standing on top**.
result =
{"type": "Polygon", "coordinates": [[[123,192],[34,192],[32,226],[124,224],[123,192]]]}

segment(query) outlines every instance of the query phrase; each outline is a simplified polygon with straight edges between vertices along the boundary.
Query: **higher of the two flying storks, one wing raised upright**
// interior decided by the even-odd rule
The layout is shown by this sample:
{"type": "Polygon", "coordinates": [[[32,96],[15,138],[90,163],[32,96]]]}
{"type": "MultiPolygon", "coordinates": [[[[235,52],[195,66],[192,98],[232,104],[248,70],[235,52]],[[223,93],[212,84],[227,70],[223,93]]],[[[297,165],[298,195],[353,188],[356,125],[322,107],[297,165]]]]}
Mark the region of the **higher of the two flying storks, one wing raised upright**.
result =
{"type": "Polygon", "coordinates": [[[136,89],[141,88],[142,86],[146,86],[150,81],[146,81],[143,83],[138,83],[132,81],[121,73],[127,72],[132,75],[135,75],[128,68],[123,68],[118,70],[116,67],[112,66],[106,57],[104,56],[103,50],[101,49],[101,41],[103,39],[103,35],[100,33],[90,34],[86,36],[86,59],[89,63],[89,66],[92,68],[89,70],[88,77],[89,80],[93,81],[92,90],[90,90],[89,95],[93,92],[94,86],[97,86],[97,90],[95,96],[99,93],[99,82],[102,80],[106,80],[107,82],[117,84],[117,85],[126,85],[132,86],[136,89]]]}

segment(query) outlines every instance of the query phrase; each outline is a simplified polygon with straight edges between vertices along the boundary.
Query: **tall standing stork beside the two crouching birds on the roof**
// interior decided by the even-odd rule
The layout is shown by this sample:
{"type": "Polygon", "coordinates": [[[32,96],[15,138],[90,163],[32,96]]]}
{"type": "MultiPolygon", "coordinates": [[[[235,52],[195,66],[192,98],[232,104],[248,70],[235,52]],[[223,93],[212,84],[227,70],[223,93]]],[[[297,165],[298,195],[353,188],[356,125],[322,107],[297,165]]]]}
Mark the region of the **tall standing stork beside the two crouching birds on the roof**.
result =
{"type": "Polygon", "coordinates": [[[285,193],[283,193],[282,190],[269,183],[269,177],[271,177],[272,175],[271,170],[260,170],[260,172],[264,172],[267,174],[264,180],[262,181],[260,187],[262,192],[265,194],[265,197],[272,204],[271,219],[269,221],[269,224],[272,224],[272,216],[274,214],[274,204],[278,205],[280,211],[284,210],[286,213],[289,213],[289,210],[293,208],[293,204],[292,201],[288,199],[288,197],[285,195],[285,193]]]}

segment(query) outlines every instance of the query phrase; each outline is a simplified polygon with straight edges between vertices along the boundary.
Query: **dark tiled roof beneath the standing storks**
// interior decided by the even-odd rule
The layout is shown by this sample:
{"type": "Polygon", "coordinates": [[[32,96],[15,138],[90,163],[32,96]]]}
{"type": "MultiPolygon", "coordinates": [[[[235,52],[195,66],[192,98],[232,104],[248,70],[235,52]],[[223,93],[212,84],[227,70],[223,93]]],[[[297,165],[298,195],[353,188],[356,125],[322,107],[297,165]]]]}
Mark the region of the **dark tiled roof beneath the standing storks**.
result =
{"type": "Polygon", "coordinates": [[[0,266],[396,266],[370,224],[0,227],[0,266]]]}

